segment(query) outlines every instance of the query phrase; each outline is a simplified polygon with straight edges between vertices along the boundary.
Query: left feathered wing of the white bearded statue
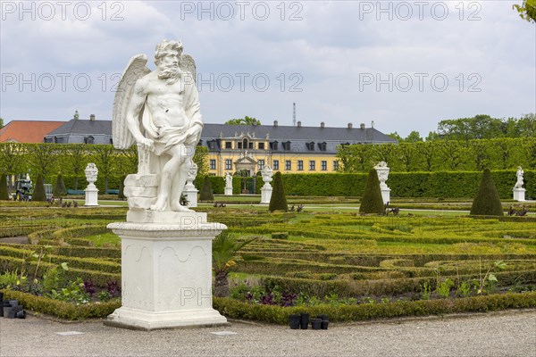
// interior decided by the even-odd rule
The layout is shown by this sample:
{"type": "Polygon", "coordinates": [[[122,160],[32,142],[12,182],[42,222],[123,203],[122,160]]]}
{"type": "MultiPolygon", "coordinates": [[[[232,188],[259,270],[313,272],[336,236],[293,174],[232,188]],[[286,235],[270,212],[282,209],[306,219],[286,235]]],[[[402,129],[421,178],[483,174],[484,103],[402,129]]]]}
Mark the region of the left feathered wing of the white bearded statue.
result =
{"type": "MultiPolygon", "coordinates": [[[[113,146],[117,149],[128,149],[134,144],[134,137],[130,134],[127,125],[127,110],[136,81],[151,71],[147,68],[146,64],[147,55],[137,54],[132,57],[117,85],[117,91],[113,99],[112,114],[113,146]]],[[[141,123],[141,114],[139,120],[141,123]]]]}

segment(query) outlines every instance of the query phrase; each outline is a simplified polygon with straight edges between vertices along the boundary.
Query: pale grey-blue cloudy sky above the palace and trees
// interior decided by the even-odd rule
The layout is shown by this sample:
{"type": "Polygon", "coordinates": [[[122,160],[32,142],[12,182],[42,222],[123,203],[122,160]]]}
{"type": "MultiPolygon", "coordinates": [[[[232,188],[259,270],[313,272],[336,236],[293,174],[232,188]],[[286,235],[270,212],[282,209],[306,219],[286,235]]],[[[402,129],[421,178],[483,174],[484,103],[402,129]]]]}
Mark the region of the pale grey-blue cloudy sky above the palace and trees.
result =
{"type": "MultiPolygon", "coordinates": [[[[515,1],[2,1],[0,117],[111,120],[130,57],[181,39],[205,122],[367,127],[536,112],[536,27],[515,1]]],[[[149,61],[149,68],[154,64],[149,61]]]]}

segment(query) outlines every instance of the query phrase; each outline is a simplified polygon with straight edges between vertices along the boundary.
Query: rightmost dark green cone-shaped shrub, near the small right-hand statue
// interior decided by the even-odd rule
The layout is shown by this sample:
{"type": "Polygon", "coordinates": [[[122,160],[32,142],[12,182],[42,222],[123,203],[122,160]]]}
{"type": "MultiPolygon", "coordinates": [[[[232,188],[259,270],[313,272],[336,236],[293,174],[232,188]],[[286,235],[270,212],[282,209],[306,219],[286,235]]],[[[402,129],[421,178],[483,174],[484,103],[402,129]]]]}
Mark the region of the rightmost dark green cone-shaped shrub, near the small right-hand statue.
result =
{"type": "Polygon", "coordinates": [[[490,169],[485,169],[480,187],[471,206],[471,215],[474,216],[503,216],[504,212],[497,188],[493,183],[490,169]]]}

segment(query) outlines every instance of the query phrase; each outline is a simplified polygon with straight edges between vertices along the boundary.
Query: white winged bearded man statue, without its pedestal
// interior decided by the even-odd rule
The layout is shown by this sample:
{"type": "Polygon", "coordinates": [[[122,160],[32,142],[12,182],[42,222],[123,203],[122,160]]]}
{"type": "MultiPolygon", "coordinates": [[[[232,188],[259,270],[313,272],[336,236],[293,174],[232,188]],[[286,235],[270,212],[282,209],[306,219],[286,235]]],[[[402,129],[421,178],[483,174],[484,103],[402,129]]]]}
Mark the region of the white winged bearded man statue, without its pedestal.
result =
{"type": "Polygon", "coordinates": [[[187,212],[180,195],[203,129],[195,62],[182,54],[180,41],[163,40],[156,46],[155,71],[146,64],[147,56],[138,54],[123,73],[113,103],[113,145],[138,145],[133,185],[155,182],[155,197],[140,195],[149,198],[140,198],[136,208],[187,212]]]}

